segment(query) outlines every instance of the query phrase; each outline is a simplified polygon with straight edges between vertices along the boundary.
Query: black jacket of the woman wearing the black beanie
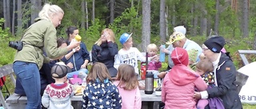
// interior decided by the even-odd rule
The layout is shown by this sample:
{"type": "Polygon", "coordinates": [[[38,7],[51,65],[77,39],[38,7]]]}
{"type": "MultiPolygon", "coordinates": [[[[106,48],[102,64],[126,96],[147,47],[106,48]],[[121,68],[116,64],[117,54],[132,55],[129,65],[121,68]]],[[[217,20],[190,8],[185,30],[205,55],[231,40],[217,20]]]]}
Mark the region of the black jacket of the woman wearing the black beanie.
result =
{"type": "Polygon", "coordinates": [[[207,89],[209,98],[220,97],[225,109],[242,109],[242,103],[238,97],[236,80],[236,68],[229,56],[222,53],[216,69],[218,87],[207,89]]]}

